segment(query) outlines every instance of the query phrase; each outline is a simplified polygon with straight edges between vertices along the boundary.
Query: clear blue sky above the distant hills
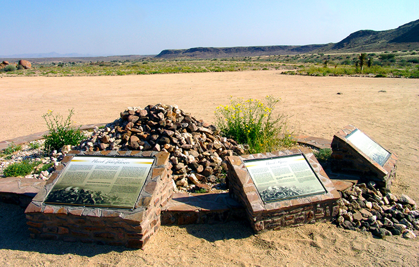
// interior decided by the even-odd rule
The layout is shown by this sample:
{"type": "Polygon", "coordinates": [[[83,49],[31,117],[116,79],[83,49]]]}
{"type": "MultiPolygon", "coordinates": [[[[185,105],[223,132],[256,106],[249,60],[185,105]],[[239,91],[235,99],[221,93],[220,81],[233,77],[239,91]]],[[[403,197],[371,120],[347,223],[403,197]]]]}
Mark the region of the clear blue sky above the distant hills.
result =
{"type": "Polygon", "coordinates": [[[0,0],[0,55],[339,42],[419,19],[418,0],[0,0]]]}

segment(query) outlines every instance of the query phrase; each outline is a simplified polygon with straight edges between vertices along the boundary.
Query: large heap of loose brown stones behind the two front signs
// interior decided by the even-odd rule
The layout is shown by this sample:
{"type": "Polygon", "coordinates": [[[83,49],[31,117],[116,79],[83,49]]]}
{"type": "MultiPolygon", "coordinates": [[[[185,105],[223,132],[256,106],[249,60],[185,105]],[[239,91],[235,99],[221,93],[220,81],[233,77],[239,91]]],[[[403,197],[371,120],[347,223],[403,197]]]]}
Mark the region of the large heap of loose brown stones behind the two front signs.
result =
{"type": "Polygon", "coordinates": [[[195,119],[176,105],[128,108],[120,117],[95,129],[78,149],[168,151],[175,184],[185,191],[210,190],[224,179],[225,157],[244,154],[243,146],[221,137],[214,125],[195,119]]]}

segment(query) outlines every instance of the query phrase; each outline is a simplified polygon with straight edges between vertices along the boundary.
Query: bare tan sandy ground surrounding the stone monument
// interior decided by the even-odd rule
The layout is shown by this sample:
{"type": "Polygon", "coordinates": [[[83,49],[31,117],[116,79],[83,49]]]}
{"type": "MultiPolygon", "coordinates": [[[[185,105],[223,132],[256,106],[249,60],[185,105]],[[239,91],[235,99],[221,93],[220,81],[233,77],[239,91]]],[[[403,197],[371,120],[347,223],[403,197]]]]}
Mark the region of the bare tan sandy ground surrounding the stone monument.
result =
{"type": "MultiPolygon", "coordinates": [[[[3,77],[0,140],[45,131],[48,110],[78,124],[128,106],[176,104],[214,122],[229,97],[282,99],[297,134],[332,139],[352,124],[398,154],[392,192],[419,202],[419,80],[285,76],[278,71],[116,77],[3,77]],[[379,92],[385,90],[385,92],[379,92]],[[337,94],[341,92],[342,94],[337,94]]],[[[419,266],[419,238],[376,239],[319,223],[253,235],[247,222],[161,227],[144,250],[32,240],[23,211],[0,204],[1,266],[419,266]]]]}

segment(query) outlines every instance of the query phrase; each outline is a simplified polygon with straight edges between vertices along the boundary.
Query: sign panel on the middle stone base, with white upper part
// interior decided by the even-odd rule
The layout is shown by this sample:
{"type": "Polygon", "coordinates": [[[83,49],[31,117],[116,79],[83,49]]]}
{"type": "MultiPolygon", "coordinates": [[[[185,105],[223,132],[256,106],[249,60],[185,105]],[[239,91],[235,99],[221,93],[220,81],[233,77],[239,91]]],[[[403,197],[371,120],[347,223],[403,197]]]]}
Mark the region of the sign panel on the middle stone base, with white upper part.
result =
{"type": "Polygon", "coordinates": [[[264,203],[326,193],[303,154],[244,161],[264,203]]]}

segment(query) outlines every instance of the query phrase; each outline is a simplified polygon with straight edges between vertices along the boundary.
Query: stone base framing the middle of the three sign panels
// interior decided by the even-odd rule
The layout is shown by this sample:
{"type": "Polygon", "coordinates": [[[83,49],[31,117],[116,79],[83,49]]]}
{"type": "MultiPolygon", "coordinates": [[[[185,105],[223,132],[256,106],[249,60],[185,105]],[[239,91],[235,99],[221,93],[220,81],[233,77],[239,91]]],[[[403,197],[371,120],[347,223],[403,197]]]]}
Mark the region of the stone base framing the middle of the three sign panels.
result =
{"type": "Polygon", "coordinates": [[[230,195],[243,204],[250,224],[256,233],[280,230],[283,227],[314,223],[317,220],[336,216],[341,198],[333,183],[308,148],[292,149],[272,153],[228,157],[228,181],[230,195]],[[247,171],[244,160],[264,159],[304,153],[327,193],[279,200],[264,204],[247,171]]]}

